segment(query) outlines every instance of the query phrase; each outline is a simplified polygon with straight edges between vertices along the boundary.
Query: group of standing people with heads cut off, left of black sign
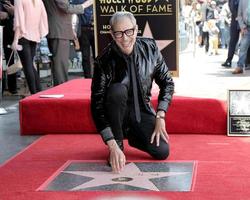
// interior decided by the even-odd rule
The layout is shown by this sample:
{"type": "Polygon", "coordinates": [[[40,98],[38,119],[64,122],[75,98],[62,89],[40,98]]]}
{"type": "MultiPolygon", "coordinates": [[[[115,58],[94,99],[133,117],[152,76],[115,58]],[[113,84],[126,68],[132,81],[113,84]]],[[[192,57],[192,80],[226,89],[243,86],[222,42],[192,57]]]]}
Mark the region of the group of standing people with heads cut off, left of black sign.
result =
{"type": "MultiPolygon", "coordinates": [[[[90,49],[94,56],[92,0],[2,0],[0,23],[3,28],[3,49],[8,65],[13,64],[17,52],[30,94],[41,91],[38,70],[34,64],[37,44],[43,37],[48,40],[51,56],[53,85],[68,80],[70,42],[79,40],[85,78],[91,78],[90,49]],[[72,15],[78,14],[76,31],[72,15]]],[[[5,81],[6,82],[6,81],[5,81]]],[[[11,94],[17,93],[17,73],[8,74],[7,85],[11,94]]]]}

